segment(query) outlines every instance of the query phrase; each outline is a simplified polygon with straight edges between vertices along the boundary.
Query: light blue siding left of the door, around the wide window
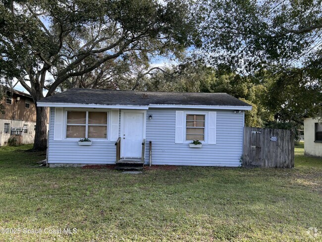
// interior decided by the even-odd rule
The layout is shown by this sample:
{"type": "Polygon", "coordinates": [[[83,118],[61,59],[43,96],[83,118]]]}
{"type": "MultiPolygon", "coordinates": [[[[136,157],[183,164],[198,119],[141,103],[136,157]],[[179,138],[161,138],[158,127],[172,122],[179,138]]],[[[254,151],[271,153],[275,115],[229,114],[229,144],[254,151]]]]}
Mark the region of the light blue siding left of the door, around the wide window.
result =
{"type": "Polygon", "coordinates": [[[77,141],[54,140],[54,108],[50,111],[48,163],[115,164],[115,141],[93,141],[91,146],[79,146],[77,141]]]}

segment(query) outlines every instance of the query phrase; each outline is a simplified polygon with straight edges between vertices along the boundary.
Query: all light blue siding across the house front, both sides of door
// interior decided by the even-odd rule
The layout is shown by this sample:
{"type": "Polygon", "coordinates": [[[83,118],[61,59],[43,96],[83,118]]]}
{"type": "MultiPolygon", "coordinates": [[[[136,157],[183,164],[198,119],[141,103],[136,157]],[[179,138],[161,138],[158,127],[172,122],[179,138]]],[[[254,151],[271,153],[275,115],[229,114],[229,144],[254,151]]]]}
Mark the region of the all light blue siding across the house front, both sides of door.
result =
{"type": "MultiPolygon", "coordinates": [[[[153,165],[240,166],[243,113],[234,113],[233,110],[198,110],[217,112],[216,144],[203,144],[202,148],[190,148],[188,143],[174,143],[175,111],[176,109],[156,108],[147,110],[146,164],[149,163],[151,140],[153,165]],[[151,120],[150,115],[153,117],[151,120]]],[[[110,141],[93,141],[91,146],[79,146],[77,141],[54,141],[54,108],[51,108],[49,163],[114,164],[116,156],[114,144],[115,142],[110,141]]]]}

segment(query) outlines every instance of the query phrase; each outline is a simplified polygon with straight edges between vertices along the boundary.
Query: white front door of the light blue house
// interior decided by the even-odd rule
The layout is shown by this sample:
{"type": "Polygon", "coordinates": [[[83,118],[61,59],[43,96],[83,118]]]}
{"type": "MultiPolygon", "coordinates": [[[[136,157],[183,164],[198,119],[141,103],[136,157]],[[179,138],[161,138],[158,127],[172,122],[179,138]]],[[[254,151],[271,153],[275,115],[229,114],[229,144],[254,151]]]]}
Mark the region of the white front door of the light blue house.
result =
{"type": "Polygon", "coordinates": [[[123,111],[121,122],[122,158],[141,158],[144,118],[144,112],[123,111]]]}

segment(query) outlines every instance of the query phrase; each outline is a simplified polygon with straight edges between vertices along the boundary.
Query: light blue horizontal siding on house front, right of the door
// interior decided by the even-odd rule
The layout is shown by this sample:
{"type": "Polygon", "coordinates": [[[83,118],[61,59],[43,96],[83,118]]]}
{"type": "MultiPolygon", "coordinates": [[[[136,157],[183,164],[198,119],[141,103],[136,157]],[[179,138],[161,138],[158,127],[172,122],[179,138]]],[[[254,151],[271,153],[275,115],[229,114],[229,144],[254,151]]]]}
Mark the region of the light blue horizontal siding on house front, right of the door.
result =
{"type": "MultiPolygon", "coordinates": [[[[240,166],[243,151],[243,113],[233,110],[198,110],[217,112],[216,144],[190,148],[175,144],[175,109],[149,109],[147,117],[146,162],[149,161],[149,141],[152,141],[153,165],[240,166]]],[[[185,110],[193,111],[193,110],[185,110]]]]}

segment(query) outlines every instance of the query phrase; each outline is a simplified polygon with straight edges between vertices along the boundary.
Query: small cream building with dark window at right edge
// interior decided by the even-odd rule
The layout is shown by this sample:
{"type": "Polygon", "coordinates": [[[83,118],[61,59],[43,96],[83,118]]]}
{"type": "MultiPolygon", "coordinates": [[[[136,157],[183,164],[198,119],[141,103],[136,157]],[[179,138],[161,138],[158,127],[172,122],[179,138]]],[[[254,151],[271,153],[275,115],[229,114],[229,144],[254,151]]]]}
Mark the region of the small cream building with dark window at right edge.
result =
{"type": "Polygon", "coordinates": [[[322,117],[304,120],[304,154],[322,158],[322,117]]]}

